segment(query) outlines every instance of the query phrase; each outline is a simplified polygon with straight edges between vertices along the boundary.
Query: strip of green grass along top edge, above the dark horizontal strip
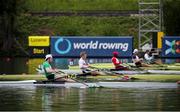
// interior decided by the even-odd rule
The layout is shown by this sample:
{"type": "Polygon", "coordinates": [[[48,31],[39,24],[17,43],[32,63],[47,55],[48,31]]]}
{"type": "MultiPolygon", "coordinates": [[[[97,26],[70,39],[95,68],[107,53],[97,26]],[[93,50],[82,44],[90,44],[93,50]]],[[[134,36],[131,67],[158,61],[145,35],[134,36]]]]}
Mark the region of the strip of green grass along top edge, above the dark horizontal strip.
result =
{"type": "Polygon", "coordinates": [[[31,11],[137,10],[138,0],[27,0],[31,11]]]}

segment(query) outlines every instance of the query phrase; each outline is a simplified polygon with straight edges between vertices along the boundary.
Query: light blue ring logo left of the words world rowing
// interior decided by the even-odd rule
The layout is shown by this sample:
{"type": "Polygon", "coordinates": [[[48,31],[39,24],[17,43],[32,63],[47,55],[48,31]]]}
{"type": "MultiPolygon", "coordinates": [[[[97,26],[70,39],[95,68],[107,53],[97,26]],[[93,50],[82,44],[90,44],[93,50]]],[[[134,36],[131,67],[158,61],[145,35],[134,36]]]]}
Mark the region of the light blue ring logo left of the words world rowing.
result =
{"type": "Polygon", "coordinates": [[[59,38],[54,47],[57,53],[66,54],[71,50],[71,42],[68,39],[59,38]]]}

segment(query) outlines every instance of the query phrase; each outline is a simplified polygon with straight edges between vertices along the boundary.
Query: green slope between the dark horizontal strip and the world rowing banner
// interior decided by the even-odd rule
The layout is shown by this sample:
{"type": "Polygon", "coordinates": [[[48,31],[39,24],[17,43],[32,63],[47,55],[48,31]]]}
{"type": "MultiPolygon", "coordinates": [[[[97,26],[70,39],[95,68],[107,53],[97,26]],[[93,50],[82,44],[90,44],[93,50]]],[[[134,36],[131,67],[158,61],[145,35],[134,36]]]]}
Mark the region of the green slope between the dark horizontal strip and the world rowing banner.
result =
{"type": "Polygon", "coordinates": [[[49,28],[54,35],[72,36],[137,36],[137,18],[133,17],[22,17],[21,30],[37,35],[38,29],[49,28]],[[24,25],[26,24],[26,25],[24,25]]]}

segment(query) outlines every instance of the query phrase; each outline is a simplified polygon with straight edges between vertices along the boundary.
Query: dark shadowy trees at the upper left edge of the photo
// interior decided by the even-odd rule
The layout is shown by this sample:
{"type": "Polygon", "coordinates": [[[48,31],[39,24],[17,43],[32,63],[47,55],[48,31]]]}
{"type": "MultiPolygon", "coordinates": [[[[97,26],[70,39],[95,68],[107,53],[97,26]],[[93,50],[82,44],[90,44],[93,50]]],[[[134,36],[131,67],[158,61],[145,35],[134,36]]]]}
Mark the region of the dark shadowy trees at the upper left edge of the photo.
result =
{"type": "Polygon", "coordinates": [[[1,0],[0,2],[0,53],[1,56],[11,55],[16,50],[17,17],[25,11],[24,1],[1,0]]]}

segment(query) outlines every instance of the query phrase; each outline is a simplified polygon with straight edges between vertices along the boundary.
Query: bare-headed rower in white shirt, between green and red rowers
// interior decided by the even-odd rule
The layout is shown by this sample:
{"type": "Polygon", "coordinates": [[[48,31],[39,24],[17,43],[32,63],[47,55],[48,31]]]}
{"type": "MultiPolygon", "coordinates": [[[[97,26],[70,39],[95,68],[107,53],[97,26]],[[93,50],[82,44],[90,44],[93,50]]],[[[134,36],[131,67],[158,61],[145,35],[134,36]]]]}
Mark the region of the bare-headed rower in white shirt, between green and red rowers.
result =
{"type": "Polygon", "coordinates": [[[87,53],[81,52],[80,53],[80,59],[79,59],[79,68],[81,69],[82,73],[85,75],[98,75],[96,71],[91,71],[90,65],[86,62],[87,53]]]}

